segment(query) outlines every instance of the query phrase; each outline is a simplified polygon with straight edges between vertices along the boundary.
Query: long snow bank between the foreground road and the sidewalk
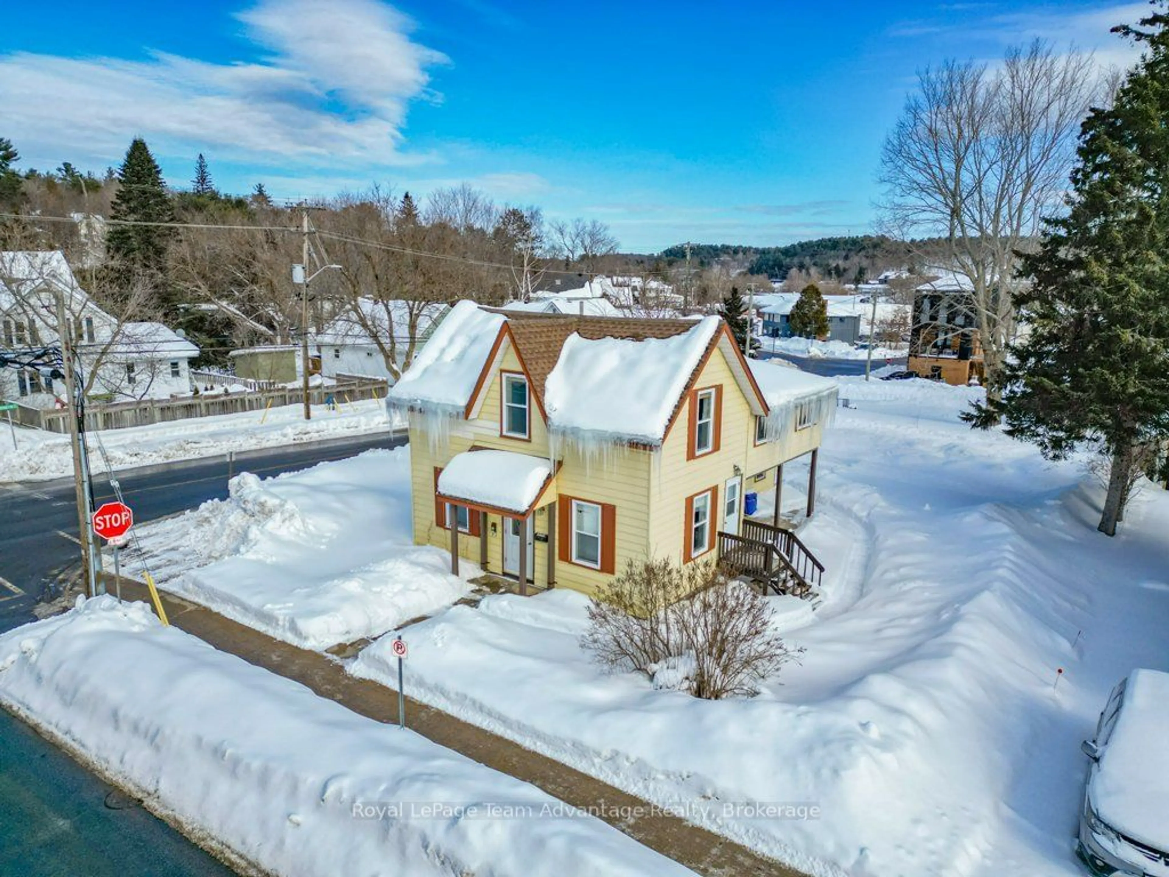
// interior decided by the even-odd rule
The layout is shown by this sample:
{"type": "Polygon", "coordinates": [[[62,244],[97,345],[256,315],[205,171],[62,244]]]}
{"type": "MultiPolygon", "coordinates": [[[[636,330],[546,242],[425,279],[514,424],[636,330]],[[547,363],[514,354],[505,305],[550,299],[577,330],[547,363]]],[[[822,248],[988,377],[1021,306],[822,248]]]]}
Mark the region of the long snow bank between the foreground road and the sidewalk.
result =
{"type": "Polygon", "coordinates": [[[0,636],[0,700],[276,873],[690,873],[595,819],[486,816],[558,802],[162,628],[143,603],[101,598],[0,636]]]}

